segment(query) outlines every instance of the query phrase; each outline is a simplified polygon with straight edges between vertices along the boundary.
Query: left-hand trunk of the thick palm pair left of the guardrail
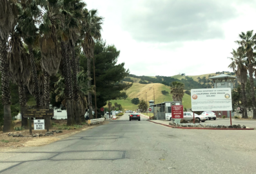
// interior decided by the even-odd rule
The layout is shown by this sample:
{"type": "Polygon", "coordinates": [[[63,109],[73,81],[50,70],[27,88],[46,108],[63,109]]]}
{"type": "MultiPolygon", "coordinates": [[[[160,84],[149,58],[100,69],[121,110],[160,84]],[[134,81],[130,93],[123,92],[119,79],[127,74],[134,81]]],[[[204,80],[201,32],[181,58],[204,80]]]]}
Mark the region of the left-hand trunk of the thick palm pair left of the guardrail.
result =
{"type": "Polygon", "coordinates": [[[61,55],[63,56],[63,75],[65,79],[65,92],[66,92],[66,113],[67,113],[67,125],[71,126],[74,124],[73,122],[73,115],[72,115],[72,104],[71,104],[71,99],[72,99],[72,84],[71,84],[71,78],[68,70],[68,66],[70,66],[68,58],[67,58],[67,53],[66,53],[66,45],[64,44],[63,41],[61,41],[61,55]]]}

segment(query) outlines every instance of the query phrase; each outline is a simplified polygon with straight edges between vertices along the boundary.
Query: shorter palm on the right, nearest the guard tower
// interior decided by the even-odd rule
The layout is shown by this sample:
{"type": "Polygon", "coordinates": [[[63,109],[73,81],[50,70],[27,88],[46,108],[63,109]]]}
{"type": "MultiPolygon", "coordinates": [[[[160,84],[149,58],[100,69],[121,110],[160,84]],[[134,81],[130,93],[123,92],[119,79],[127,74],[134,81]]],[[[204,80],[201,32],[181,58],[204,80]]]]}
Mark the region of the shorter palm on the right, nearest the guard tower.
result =
{"type": "Polygon", "coordinates": [[[246,59],[244,53],[242,53],[240,50],[233,50],[231,52],[233,57],[229,57],[231,59],[231,63],[228,66],[235,72],[237,75],[238,81],[241,82],[241,90],[242,90],[242,103],[244,105],[244,119],[248,119],[247,115],[247,99],[246,99],[246,93],[245,93],[245,85],[247,82],[247,70],[246,67],[246,59]]]}

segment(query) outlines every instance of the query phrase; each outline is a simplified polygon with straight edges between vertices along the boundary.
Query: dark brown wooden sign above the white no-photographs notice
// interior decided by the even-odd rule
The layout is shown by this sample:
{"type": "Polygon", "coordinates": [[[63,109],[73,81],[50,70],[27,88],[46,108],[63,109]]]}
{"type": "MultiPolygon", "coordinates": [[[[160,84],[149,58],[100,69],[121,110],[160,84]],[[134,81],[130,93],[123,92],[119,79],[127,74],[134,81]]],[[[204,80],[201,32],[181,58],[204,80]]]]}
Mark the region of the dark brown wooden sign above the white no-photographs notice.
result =
{"type": "Polygon", "coordinates": [[[25,110],[24,117],[54,117],[54,109],[25,110]]]}

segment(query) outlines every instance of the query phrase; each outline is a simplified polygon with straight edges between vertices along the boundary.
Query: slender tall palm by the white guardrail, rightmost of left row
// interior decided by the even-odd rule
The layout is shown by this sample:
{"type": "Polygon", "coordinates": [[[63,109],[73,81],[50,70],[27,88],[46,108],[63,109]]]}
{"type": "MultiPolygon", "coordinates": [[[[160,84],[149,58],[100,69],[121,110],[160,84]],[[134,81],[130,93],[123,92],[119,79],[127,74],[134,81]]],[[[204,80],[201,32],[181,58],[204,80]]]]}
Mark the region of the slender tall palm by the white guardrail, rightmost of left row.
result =
{"type": "MultiPolygon", "coordinates": [[[[103,24],[103,17],[97,16],[97,10],[84,10],[83,32],[84,41],[82,43],[84,54],[87,57],[87,74],[88,79],[91,79],[91,59],[94,59],[94,39],[101,38],[101,24],[103,24]]],[[[95,72],[95,71],[94,71],[95,72]]],[[[95,84],[95,78],[94,78],[95,84]]],[[[91,81],[88,81],[88,88],[91,86],[91,81]]],[[[95,97],[96,97],[96,86],[95,97]]],[[[96,101],[96,98],[95,98],[96,101]]],[[[88,93],[89,104],[89,118],[92,119],[92,93],[88,93]]],[[[97,102],[95,102],[95,115],[97,118],[97,102]]]]}

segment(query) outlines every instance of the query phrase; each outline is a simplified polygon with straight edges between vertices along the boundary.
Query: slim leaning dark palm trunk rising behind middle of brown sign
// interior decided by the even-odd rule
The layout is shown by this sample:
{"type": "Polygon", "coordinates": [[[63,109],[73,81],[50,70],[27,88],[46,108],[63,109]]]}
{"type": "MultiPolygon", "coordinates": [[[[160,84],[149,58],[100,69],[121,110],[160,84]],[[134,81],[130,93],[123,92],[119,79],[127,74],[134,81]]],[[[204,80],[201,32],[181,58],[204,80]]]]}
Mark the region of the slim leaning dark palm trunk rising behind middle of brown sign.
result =
{"type": "Polygon", "coordinates": [[[30,64],[32,66],[32,80],[34,83],[34,94],[35,94],[35,102],[37,108],[40,108],[42,106],[42,101],[41,101],[41,96],[39,92],[39,82],[38,82],[38,77],[37,77],[37,68],[35,66],[35,58],[34,58],[34,53],[33,53],[33,48],[31,45],[28,45],[28,52],[30,53],[30,64]]]}

